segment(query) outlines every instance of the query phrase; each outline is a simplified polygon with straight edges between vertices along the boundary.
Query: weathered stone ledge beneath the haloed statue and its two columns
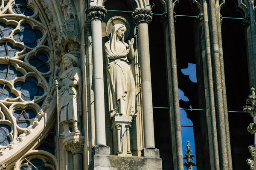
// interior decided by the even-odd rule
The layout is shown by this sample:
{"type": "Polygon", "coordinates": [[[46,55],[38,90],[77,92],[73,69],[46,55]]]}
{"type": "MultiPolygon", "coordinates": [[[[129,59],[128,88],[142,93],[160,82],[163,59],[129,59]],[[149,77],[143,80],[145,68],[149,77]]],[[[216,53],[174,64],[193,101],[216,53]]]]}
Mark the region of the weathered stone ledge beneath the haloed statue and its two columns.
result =
{"type": "Polygon", "coordinates": [[[94,155],[89,170],[162,170],[161,158],[94,155]]]}

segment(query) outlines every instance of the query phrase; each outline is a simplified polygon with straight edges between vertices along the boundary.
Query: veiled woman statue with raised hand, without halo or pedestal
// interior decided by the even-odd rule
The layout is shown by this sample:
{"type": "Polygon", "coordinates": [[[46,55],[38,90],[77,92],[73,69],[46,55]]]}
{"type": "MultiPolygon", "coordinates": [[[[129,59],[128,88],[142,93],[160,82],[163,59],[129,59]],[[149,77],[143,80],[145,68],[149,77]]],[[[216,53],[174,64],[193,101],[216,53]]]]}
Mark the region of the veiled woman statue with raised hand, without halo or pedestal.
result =
{"type": "Polygon", "coordinates": [[[111,119],[114,115],[134,115],[136,88],[130,62],[134,60],[134,38],[124,42],[126,27],[115,24],[110,40],[105,43],[108,79],[108,104],[111,119]]]}

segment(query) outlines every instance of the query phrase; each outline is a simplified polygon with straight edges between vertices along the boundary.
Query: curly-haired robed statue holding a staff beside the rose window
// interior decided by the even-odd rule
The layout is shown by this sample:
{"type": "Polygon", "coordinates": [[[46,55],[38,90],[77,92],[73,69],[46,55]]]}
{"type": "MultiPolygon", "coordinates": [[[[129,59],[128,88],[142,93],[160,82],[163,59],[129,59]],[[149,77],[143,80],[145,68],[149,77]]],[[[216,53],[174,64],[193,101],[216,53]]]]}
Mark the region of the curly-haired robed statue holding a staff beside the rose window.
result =
{"type": "Polygon", "coordinates": [[[65,54],[62,62],[67,68],[61,74],[59,80],[55,80],[55,85],[59,85],[59,111],[60,124],[64,127],[64,132],[60,134],[65,136],[70,133],[70,124],[73,124],[73,135],[79,135],[78,129],[79,116],[81,114],[81,71],[78,67],[78,59],[72,54],[65,54]]]}

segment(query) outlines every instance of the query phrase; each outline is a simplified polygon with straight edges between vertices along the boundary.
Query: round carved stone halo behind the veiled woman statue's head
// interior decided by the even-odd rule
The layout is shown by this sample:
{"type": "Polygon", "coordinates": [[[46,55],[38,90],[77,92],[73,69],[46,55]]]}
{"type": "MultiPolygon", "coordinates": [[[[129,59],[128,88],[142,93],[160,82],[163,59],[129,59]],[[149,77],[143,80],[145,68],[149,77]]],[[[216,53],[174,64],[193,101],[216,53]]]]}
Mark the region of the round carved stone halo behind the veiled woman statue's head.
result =
{"type": "Polygon", "coordinates": [[[111,19],[108,20],[107,25],[106,25],[106,33],[108,35],[108,38],[110,38],[109,34],[111,34],[111,31],[115,24],[125,25],[125,27],[126,27],[125,40],[126,40],[130,35],[131,28],[130,28],[130,24],[128,23],[128,21],[124,17],[121,17],[121,16],[112,17],[111,19]]]}

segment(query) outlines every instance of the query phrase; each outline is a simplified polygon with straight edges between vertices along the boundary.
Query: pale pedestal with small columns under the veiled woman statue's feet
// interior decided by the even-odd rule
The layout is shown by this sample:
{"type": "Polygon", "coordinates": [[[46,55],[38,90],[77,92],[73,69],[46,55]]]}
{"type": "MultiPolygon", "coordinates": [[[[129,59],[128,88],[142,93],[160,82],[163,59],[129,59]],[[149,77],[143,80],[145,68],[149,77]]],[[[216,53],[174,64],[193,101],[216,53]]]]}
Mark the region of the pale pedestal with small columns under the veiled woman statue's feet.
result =
{"type": "Polygon", "coordinates": [[[132,156],[130,145],[130,128],[132,116],[117,115],[113,117],[113,149],[118,156],[132,156]]]}

